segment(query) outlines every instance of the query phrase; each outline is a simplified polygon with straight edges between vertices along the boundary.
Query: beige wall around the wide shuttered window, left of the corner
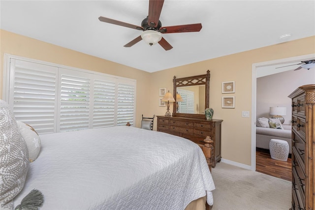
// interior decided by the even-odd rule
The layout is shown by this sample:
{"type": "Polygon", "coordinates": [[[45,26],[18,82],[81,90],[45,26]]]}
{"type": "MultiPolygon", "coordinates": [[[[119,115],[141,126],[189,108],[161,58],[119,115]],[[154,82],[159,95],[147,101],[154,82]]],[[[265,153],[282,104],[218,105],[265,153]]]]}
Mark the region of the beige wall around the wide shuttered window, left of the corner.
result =
{"type": "Polygon", "coordinates": [[[141,126],[141,115],[150,113],[146,98],[150,95],[150,73],[3,30],[0,30],[0,99],[4,53],[136,79],[136,127],[141,126]]]}

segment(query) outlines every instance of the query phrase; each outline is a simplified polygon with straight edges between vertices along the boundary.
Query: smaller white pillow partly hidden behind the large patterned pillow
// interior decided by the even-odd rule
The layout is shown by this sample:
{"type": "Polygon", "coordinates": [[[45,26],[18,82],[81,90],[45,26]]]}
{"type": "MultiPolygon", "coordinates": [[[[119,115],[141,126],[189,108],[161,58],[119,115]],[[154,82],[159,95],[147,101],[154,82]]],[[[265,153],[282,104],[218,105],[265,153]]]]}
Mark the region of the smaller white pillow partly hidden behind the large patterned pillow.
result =
{"type": "Polygon", "coordinates": [[[28,146],[29,150],[29,160],[32,163],[34,160],[37,159],[41,142],[38,134],[36,131],[32,128],[32,126],[24,123],[24,122],[17,122],[21,135],[23,139],[26,142],[26,145],[28,146]]]}

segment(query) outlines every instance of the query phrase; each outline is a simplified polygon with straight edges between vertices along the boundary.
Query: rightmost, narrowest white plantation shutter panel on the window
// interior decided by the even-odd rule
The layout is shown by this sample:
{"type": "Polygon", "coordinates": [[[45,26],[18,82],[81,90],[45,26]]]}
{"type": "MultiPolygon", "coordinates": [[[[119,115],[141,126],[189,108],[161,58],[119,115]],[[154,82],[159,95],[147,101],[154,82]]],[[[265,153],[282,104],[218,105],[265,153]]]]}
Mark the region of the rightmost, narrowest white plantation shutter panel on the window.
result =
{"type": "Polygon", "coordinates": [[[117,125],[133,125],[135,84],[118,82],[117,125]]]}

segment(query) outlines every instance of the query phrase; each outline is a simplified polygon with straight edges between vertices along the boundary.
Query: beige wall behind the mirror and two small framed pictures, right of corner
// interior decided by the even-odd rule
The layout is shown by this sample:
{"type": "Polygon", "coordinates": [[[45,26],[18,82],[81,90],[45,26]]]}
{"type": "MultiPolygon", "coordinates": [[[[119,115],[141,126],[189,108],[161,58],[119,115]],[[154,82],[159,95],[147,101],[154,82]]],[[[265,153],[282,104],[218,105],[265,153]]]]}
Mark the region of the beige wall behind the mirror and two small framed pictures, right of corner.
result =
{"type": "MultiPolygon", "coordinates": [[[[211,50],[211,49],[209,49],[211,50]]],[[[172,79],[205,74],[210,70],[210,107],[215,119],[222,119],[222,158],[251,165],[251,118],[241,117],[252,108],[252,64],[315,53],[315,36],[267,46],[194,64],[152,73],[152,97],[158,99],[158,88],[172,90],[172,79]],[[168,79],[167,79],[168,78],[168,79]],[[221,82],[235,81],[234,94],[222,94],[221,82]],[[235,108],[221,108],[222,96],[235,96],[235,108]]],[[[151,100],[155,114],[165,113],[151,100]]]]}

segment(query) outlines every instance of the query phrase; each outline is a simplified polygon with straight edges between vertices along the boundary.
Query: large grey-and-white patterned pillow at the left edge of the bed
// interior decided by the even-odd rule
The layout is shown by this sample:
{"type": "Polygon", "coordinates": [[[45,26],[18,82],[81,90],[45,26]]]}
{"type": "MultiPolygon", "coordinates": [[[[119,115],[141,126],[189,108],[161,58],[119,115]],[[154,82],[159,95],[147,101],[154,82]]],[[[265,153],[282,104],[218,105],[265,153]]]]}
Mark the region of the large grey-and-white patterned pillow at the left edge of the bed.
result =
{"type": "Polygon", "coordinates": [[[0,209],[12,209],[29,170],[29,153],[9,105],[0,100],[0,209]]]}

